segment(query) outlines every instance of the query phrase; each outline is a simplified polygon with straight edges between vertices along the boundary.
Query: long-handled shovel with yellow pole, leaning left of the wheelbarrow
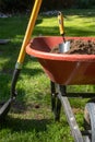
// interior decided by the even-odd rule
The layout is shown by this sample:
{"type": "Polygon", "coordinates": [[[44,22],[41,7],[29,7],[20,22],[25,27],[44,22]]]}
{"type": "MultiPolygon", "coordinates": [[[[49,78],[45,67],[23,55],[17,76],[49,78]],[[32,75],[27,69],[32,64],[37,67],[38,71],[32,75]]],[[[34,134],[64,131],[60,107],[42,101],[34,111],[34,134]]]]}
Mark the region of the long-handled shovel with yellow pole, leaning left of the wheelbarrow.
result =
{"type": "Polygon", "coordinates": [[[0,107],[0,120],[4,119],[5,115],[10,110],[11,104],[15,100],[15,97],[17,95],[16,92],[15,92],[15,85],[16,85],[23,62],[24,62],[25,48],[26,48],[27,44],[29,43],[31,35],[32,35],[32,32],[34,29],[34,25],[35,25],[37,15],[38,15],[38,11],[39,11],[41,1],[43,0],[35,0],[34,8],[33,8],[33,11],[32,11],[32,15],[31,15],[31,19],[29,19],[29,22],[28,22],[28,25],[27,25],[27,29],[26,29],[26,33],[25,33],[25,36],[24,36],[24,40],[23,40],[23,44],[22,44],[22,47],[21,47],[21,50],[20,50],[20,55],[19,55],[17,61],[16,61],[16,64],[15,64],[15,69],[14,69],[14,72],[13,72],[13,78],[12,78],[12,83],[11,83],[11,96],[0,107]]]}

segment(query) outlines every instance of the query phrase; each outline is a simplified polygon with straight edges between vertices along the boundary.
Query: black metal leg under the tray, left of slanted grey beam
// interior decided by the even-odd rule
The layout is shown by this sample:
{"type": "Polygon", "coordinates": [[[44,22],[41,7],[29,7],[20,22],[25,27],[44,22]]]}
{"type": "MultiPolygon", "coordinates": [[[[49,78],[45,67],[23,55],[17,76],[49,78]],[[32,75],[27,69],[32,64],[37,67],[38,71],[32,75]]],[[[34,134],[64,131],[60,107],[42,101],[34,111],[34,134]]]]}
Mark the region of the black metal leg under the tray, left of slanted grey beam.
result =
{"type": "Polygon", "coordinates": [[[59,121],[61,111],[61,102],[58,97],[58,93],[56,92],[56,84],[54,82],[50,82],[50,86],[51,86],[51,110],[55,114],[55,120],[59,121]]]}

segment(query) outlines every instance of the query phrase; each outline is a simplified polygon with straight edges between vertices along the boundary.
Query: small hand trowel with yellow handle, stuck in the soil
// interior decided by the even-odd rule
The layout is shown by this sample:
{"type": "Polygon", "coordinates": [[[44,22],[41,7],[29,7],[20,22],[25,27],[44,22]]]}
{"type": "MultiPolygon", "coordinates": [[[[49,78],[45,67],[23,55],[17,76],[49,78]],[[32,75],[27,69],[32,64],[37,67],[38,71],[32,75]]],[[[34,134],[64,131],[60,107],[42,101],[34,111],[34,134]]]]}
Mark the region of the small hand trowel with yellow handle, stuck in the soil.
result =
{"type": "Polygon", "coordinates": [[[58,13],[58,23],[60,35],[62,36],[63,43],[59,44],[59,52],[67,52],[70,49],[70,42],[66,42],[64,28],[63,28],[63,15],[61,12],[58,13]]]}

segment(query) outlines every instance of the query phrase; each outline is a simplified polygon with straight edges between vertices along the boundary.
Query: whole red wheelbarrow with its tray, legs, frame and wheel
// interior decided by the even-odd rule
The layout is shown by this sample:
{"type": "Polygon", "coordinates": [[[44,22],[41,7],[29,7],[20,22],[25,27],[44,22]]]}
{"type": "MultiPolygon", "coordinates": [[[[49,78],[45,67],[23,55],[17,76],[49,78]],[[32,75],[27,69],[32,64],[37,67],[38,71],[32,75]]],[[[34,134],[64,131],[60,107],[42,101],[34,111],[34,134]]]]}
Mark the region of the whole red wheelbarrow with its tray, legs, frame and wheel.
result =
{"type": "MultiPolygon", "coordinates": [[[[67,39],[95,40],[93,37],[67,37],[67,39]]],[[[60,119],[63,106],[75,142],[95,142],[94,93],[67,93],[67,85],[95,84],[95,55],[51,54],[55,46],[62,43],[60,36],[35,37],[26,47],[26,52],[38,59],[51,82],[51,106],[55,119],[60,119]],[[68,97],[92,97],[85,106],[85,131],[81,132],[72,113],[68,97]],[[85,135],[85,137],[83,137],[85,135]]]]}

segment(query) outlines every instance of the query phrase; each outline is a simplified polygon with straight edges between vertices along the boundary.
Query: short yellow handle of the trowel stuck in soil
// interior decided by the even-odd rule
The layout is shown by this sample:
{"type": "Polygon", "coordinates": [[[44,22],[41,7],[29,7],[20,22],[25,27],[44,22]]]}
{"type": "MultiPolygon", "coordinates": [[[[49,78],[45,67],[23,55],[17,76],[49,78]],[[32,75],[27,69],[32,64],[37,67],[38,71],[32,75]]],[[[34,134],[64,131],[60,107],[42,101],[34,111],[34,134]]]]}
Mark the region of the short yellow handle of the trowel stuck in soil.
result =
{"type": "Polygon", "coordinates": [[[59,23],[59,31],[60,35],[64,34],[64,28],[63,28],[63,15],[61,12],[58,13],[58,23],[59,23]]]}

